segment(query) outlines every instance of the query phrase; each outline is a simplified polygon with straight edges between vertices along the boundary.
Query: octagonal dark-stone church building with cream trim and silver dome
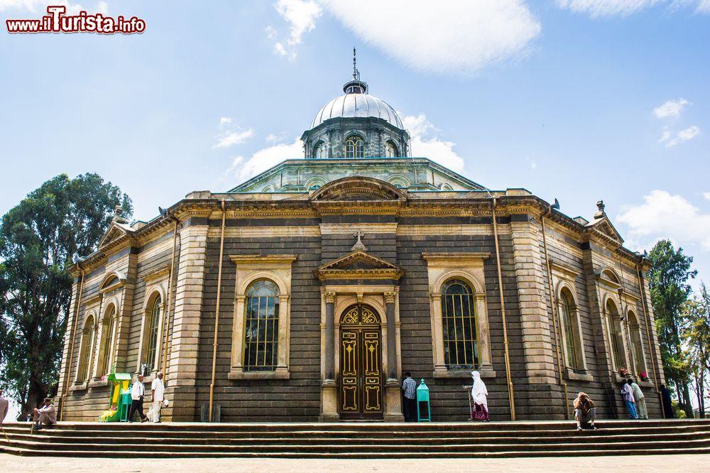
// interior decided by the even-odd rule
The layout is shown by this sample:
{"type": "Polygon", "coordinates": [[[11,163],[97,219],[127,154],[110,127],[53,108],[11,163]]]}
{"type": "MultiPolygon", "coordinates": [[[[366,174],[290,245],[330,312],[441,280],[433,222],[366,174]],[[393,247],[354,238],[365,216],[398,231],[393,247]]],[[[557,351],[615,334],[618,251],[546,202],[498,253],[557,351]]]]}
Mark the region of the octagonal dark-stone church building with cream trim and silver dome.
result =
{"type": "Polygon", "coordinates": [[[96,420],[109,372],[165,371],[166,420],[403,419],[405,371],[432,420],[468,418],[471,369],[493,420],[565,418],[578,391],[650,416],[664,381],[648,261],[604,212],[568,217],[425,157],[359,73],[289,159],[150,222],[120,214],[73,268],[62,420],[96,420]]]}

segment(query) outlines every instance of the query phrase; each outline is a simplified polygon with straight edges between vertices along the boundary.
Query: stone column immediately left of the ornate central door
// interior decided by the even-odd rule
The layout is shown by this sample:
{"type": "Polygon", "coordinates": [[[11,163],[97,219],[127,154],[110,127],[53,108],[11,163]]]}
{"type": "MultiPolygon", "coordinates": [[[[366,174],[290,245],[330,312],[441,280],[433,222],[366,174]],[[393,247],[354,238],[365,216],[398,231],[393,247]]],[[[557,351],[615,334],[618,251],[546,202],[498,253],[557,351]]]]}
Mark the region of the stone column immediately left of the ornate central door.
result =
{"type": "Polygon", "coordinates": [[[333,422],[340,419],[338,415],[338,385],[335,381],[335,293],[323,293],[324,302],[324,339],[321,356],[323,357],[323,381],[320,388],[321,422],[333,422]]]}

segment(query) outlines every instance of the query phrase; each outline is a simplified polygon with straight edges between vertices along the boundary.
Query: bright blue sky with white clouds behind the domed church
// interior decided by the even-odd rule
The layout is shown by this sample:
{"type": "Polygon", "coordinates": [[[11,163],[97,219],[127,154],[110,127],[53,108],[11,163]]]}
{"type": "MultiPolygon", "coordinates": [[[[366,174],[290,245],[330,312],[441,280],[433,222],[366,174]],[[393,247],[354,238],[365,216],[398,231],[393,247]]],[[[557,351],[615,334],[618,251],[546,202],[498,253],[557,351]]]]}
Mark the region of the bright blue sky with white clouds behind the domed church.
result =
{"type": "MultiPolygon", "coordinates": [[[[603,199],[632,249],[669,237],[710,279],[710,0],[80,3],[146,32],[2,22],[0,212],[91,171],[151,219],[300,157],[295,139],[341,93],[356,45],[415,155],[557,197],[571,216],[603,199]]],[[[46,4],[0,0],[0,18],[46,4]]]]}

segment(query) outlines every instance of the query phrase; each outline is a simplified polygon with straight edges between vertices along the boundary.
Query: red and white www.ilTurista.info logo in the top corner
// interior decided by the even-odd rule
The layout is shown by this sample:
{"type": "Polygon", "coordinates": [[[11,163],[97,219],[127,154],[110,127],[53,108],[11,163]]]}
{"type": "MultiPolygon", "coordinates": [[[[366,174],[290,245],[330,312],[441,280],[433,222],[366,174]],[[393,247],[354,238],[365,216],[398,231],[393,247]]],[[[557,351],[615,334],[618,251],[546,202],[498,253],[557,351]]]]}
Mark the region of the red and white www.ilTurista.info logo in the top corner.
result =
{"type": "Polygon", "coordinates": [[[103,13],[89,13],[79,11],[67,15],[67,8],[63,5],[50,5],[47,15],[38,19],[5,20],[8,33],[99,33],[113,35],[121,33],[130,35],[146,31],[146,21],[131,16],[123,15],[106,16],[103,13]]]}

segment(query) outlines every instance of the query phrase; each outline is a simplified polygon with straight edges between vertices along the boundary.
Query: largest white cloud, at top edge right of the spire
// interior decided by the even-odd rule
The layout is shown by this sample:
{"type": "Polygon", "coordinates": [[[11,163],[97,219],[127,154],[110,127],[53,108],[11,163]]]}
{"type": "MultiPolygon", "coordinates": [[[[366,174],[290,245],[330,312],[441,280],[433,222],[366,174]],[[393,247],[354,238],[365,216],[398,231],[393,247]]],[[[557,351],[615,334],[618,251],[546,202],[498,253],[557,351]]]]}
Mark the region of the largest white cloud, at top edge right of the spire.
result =
{"type": "Polygon", "coordinates": [[[321,0],[359,38],[417,70],[471,74],[527,53],[541,30],[522,0],[321,0]]]}

